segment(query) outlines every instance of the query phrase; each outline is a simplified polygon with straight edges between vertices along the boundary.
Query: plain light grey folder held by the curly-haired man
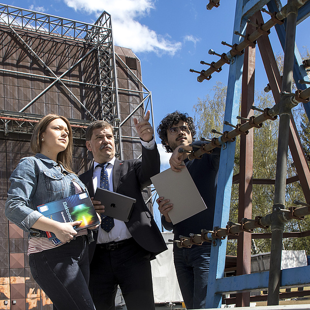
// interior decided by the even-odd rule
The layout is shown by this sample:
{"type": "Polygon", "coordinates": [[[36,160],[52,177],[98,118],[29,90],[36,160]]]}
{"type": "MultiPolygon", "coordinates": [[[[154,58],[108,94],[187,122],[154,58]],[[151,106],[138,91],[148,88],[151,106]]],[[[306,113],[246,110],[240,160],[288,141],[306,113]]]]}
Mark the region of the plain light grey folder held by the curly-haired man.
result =
{"type": "Polygon", "coordinates": [[[154,175],[151,180],[158,195],[173,203],[173,209],[168,212],[172,224],[188,219],[207,208],[186,167],[180,172],[169,168],[154,175]]]}

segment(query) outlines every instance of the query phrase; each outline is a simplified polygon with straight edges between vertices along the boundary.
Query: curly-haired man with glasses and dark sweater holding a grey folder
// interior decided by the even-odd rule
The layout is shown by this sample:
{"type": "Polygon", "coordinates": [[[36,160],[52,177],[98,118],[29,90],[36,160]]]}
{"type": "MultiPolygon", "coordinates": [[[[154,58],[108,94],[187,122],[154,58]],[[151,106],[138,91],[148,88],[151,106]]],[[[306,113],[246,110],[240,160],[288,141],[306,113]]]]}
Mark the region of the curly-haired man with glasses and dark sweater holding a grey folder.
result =
{"type": "MultiPolygon", "coordinates": [[[[189,160],[188,153],[179,153],[178,149],[190,151],[200,147],[202,141],[195,141],[195,125],[193,118],[187,113],[175,111],[165,116],[157,128],[159,137],[167,152],[173,152],[170,159],[171,169],[180,171],[186,167],[203,198],[207,209],[175,225],[171,223],[169,211],[173,204],[169,197],[159,197],[157,202],[162,214],[162,224],[167,230],[173,230],[174,239],[189,236],[190,233],[200,234],[201,229],[213,230],[216,181],[220,162],[220,149],[211,154],[203,154],[201,159],[189,160]],[[184,161],[185,166],[182,165],[184,161]]],[[[182,187],[182,184],[174,184],[182,187]]],[[[183,189],[186,191],[187,189],[183,189]]],[[[189,193],[191,195],[191,193],[189,193]]],[[[191,207],[191,206],[189,206],[191,207]]],[[[210,243],[192,245],[190,248],[177,246],[174,243],[174,266],[180,290],[187,309],[203,309],[206,304],[207,283],[210,263],[210,243]]]]}

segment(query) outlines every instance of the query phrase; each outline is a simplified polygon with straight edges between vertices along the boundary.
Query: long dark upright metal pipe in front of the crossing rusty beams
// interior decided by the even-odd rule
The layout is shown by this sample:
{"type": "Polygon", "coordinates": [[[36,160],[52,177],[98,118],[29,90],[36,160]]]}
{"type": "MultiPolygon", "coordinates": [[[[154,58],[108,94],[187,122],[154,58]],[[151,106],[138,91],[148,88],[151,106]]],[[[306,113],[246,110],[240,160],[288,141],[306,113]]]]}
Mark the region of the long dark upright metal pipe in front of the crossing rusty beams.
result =
{"type": "MultiPolygon", "coordinates": [[[[287,4],[287,26],[284,52],[282,91],[292,92],[293,67],[295,55],[295,34],[297,7],[293,0],[287,4]]],[[[291,105],[284,96],[279,103],[280,123],[278,130],[277,159],[275,172],[274,200],[271,224],[271,252],[268,281],[267,305],[278,305],[280,296],[281,257],[283,247],[284,222],[281,217],[285,206],[287,156],[289,145],[291,105]]]]}

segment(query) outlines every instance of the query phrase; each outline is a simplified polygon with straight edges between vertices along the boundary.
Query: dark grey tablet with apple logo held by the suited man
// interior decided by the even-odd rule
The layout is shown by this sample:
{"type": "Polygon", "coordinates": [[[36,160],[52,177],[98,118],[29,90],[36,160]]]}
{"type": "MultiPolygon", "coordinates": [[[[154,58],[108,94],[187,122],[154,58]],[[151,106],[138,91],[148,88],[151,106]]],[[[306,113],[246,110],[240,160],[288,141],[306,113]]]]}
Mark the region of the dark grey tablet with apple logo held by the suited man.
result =
{"type": "Polygon", "coordinates": [[[104,205],[103,215],[111,216],[116,220],[128,222],[136,199],[97,188],[94,200],[104,205]]]}

